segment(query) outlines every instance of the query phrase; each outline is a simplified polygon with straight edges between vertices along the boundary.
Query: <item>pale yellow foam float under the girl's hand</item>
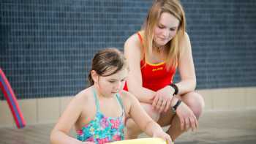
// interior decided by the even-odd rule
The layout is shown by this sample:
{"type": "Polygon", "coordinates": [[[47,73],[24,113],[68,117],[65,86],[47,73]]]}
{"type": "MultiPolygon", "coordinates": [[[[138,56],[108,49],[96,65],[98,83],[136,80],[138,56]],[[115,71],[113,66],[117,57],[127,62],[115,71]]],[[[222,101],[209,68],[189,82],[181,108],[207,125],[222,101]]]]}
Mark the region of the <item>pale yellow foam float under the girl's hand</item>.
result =
{"type": "MultiPolygon", "coordinates": [[[[121,140],[108,144],[167,144],[160,138],[138,138],[133,140],[121,140]]],[[[172,143],[173,144],[173,143],[172,143]]]]}

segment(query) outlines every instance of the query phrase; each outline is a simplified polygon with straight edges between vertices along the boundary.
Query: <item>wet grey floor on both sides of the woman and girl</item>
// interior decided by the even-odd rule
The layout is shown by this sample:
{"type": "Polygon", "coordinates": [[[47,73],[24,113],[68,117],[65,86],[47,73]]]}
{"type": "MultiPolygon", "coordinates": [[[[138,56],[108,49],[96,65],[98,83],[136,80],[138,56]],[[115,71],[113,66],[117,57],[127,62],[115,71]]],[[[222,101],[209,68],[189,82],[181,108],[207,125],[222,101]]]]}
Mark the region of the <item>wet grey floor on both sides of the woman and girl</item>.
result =
{"type": "MultiPolygon", "coordinates": [[[[0,128],[1,144],[50,143],[53,124],[26,126],[24,129],[0,128]]],[[[145,137],[141,134],[140,137],[145,137]]],[[[256,110],[207,112],[200,118],[197,132],[187,132],[176,144],[255,144],[256,110]]]]}

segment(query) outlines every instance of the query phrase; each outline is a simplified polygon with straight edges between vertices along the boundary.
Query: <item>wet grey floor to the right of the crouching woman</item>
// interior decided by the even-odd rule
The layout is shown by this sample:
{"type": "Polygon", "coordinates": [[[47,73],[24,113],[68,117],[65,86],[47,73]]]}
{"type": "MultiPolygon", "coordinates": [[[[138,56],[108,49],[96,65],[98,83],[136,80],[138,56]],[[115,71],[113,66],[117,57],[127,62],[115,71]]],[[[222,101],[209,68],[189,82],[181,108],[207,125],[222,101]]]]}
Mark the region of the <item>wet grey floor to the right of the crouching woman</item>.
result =
{"type": "Polygon", "coordinates": [[[181,135],[177,143],[255,144],[256,110],[205,113],[198,131],[181,135]]]}

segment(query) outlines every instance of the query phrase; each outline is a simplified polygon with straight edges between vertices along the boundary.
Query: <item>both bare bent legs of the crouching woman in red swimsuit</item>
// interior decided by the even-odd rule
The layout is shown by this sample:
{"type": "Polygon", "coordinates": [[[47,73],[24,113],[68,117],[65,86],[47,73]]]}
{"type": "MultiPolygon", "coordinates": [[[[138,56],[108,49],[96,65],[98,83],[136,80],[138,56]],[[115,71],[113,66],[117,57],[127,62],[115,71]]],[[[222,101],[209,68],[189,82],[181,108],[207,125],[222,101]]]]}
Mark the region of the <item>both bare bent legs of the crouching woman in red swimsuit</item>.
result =
{"type": "MultiPolygon", "coordinates": [[[[178,99],[181,99],[191,110],[194,112],[197,119],[203,112],[204,107],[204,100],[203,97],[196,93],[195,91],[189,92],[184,94],[183,96],[178,96],[178,99]]],[[[159,114],[152,110],[152,106],[141,103],[144,110],[154,119],[160,126],[167,126],[170,125],[169,129],[167,130],[167,134],[170,134],[172,140],[176,140],[176,138],[181,135],[184,130],[181,130],[180,122],[177,115],[173,115],[172,112],[162,113],[160,116],[159,114]],[[160,118],[159,118],[160,117],[160,118]]],[[[137,138],[138,135],[142,132],[137,124],[132,120],[132,118],[127,119],[127,134],[125,135],[126,139],[134,139],[137,138]]]]}

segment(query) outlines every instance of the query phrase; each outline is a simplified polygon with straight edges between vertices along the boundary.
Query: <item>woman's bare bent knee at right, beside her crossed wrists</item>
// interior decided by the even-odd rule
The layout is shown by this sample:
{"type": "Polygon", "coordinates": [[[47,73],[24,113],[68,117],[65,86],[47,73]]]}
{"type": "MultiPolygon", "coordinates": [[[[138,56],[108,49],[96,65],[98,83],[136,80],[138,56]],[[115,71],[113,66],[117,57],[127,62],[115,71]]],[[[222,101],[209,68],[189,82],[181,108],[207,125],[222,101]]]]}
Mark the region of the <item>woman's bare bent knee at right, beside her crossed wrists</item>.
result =
{"type": "Polygon", "coordinates": [[[197,92],[189,92],[182,96],[184,98],[184,102],[191,108],[197,119],[203,113],[203,108],[205,106],[205,102],[203,100],[203,96],[198,94],[197,92]]]}

